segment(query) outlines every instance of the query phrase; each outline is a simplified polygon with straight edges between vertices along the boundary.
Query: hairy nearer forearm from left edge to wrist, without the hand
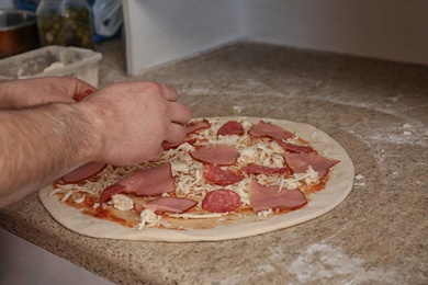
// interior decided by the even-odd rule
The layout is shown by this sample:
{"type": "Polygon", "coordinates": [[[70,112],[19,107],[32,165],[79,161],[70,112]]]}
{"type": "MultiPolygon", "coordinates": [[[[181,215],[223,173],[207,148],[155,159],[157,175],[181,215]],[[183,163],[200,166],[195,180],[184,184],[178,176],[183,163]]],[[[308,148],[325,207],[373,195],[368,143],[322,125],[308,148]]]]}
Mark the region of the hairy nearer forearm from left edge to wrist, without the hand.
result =
{"type": "Polygon", "coordinates": [[[76,105],[0,112],[0,207],[91,160],[93,129],[76,105]]]}

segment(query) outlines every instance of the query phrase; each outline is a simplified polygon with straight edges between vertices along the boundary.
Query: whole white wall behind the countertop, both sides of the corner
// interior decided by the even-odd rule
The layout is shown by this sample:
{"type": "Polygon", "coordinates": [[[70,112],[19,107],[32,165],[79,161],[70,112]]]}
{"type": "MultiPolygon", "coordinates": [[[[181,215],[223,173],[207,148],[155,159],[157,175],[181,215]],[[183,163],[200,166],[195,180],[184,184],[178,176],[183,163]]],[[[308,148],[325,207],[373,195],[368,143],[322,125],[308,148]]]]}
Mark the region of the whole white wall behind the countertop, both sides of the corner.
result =
{"type": "Polygon", "coordinates": [[[136,75],[249,41],[428,65],[428,0],[123,0],[136,75]]]}

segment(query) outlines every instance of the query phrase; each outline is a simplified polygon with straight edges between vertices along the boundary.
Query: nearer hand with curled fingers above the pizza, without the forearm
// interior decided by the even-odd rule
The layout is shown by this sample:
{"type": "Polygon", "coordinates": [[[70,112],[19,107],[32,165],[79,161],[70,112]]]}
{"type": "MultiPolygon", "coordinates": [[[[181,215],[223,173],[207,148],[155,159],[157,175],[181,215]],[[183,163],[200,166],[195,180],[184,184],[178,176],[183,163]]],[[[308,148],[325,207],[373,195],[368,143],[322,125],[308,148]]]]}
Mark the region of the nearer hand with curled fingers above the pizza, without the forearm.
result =
{"type": "Polygon", "coordinates": [[[165,84],[125,82],[108,86],[78,103],[99,130],[101,142],[93,160],[139,163],[159,158],[164,141],[182,141],[191,111],[178,98],[165,84]]]}

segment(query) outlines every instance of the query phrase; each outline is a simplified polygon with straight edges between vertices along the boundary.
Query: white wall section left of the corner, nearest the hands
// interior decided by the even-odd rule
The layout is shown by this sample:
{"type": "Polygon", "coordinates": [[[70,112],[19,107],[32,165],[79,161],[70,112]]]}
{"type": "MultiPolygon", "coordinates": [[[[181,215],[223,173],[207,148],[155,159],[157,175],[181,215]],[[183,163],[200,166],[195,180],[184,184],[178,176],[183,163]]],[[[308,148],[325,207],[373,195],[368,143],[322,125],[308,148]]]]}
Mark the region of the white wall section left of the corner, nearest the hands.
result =
{"type": "Polygon", "coordinates": [[[237,0],[123,0],[128,72],[241,37],[238,5],[237,0]]]}

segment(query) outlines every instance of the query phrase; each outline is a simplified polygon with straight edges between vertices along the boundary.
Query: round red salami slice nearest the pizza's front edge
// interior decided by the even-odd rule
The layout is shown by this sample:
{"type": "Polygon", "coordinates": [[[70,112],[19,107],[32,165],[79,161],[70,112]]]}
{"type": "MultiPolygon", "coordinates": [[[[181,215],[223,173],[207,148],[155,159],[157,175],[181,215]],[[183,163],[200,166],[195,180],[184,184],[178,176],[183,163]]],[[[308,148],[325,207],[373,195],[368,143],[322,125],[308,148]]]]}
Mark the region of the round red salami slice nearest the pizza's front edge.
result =
{"type": "Polygon", "coordinates": [[[209,192],[202,201],[202,208],[211,213],[234,212],[239,206],[239,195],[227,189],[217,189],[209,192]]]}

